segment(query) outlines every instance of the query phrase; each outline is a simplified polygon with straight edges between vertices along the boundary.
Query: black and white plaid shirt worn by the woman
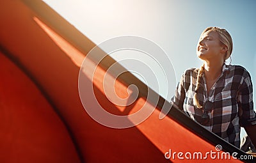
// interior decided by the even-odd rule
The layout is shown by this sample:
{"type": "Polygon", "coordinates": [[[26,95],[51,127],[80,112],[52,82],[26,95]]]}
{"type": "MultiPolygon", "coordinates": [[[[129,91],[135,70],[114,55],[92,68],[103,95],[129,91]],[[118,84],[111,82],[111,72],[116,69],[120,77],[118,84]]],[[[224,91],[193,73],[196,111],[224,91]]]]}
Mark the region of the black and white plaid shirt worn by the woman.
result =
{"type": "MultiPolygon", "coordinates": [[[[191,68],[184,72],[172,102],[200,123],[203,109],[193,105],[198,70],[191,68]]],[[[203,126],[239,148],[241,127],[256,124],[250,74],[242,66],[224,64],[220,77],[208,95],[204,74],[202,79],[198,101],[204,106],[209,100],[214,108],[208,112],[209,122],[203,126]]]]}

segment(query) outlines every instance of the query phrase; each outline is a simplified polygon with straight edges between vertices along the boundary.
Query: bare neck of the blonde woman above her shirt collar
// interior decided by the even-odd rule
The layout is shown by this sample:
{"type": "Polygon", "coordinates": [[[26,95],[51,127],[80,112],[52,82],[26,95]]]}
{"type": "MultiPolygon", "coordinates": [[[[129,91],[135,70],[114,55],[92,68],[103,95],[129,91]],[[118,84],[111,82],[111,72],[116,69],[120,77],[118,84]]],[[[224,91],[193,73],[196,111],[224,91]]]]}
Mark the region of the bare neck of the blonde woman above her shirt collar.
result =
{"type": "Polygon", "coordinates": [[[223,62],[214,62],[210,63],[205,61],[204,63],[204,69],[205,69],[205,78],[209,80],[216,80],[218,77],[220,77],[220,74],[222,72],[222,66],[223,62]]]}

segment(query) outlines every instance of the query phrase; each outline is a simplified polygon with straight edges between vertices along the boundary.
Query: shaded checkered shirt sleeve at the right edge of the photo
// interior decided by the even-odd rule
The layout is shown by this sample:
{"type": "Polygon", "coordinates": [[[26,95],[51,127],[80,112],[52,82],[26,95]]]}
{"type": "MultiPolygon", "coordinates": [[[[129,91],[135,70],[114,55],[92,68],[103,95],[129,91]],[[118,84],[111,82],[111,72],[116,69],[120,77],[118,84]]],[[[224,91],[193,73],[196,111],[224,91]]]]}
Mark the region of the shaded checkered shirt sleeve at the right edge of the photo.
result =
{"type": "Polygon", "coordinates": [[[245,127],[247,125],[256,125],[255,111],[253,111],[253,91],[252,80],[250,74],[244,70],[241,80],[241,88],[237,94],[237,104],[239,106],[240,125],[245,127]]]}

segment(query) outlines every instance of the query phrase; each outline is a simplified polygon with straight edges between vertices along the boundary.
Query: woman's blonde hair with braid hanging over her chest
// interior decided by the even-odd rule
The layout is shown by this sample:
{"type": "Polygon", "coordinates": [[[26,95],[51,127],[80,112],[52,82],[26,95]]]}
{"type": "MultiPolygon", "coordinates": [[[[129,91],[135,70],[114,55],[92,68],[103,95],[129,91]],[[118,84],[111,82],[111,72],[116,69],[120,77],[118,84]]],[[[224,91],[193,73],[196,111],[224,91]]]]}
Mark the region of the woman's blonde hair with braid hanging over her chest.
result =
{"type": "MultiPolygon", "coordinates": [[[[232,53],[232,50],[233,50],[233,42],[232,42],[232,38],[231,38],[230,34],[228,33],[228,31],[226,29],[222,29],[220,27],[207,27],[206,29],[204,29],[204,31],[200,35],[200,38],[207,31],[216,31],[216,33],[218,33],[219,40],[220,40],[221,44],[226,45],[227,49],[228,49],[226,54],[225,54],[224,59],[227,60],[228,58],[230,58],[230,61],[231,61],[230,56],[231,56],[231,53],[232,53]]],[[[200,86],[202,86],[200,84],[201,80],[202,80],[202,74],[204,74],[204,65],[202,65],[198,70],[198,74],[197,74],[197,77],[196,77],[195,95],[194,95],[194,98],[193,98],[193,103],[198,108],[202,108],[202,105],[200,105],[199,101],[198,101],[198,90],[199,90],[200,86]]]]}

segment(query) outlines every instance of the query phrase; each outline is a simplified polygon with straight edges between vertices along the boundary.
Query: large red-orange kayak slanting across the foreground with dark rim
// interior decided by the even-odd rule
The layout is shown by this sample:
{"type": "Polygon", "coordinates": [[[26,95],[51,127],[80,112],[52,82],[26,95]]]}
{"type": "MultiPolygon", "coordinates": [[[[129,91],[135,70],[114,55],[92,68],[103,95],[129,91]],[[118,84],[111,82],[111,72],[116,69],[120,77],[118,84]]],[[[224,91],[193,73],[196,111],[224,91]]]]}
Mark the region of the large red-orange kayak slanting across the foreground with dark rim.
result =
{"type": "MultiPolygon", "coordinates": [[[[83,105],[79,73],[95,43],[40,0],[4,1],[0,8],[0,162],[255,162],[131,73],[117,78],[115,90],[127,97],[134,84],[138,97],[125,107],[110,102],[103,82],[106,75],[115,78],[107,72],[115,63],[110,56],[97,65],[93,79],[84,73],[83,105]],[[147,99],[148,90],[157,102],[147,99]],[[163,104],[172,109],[160,120],[163,104]],[[98,123],[86,110],[99,107],[126,117],[133,127],[98,123]],[[151,113],[137,124],[129,115],[142,107],[151,113]]],[[[85,72],[90,74],[97,58],[86,60],[85,72]]]]}

